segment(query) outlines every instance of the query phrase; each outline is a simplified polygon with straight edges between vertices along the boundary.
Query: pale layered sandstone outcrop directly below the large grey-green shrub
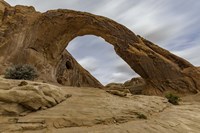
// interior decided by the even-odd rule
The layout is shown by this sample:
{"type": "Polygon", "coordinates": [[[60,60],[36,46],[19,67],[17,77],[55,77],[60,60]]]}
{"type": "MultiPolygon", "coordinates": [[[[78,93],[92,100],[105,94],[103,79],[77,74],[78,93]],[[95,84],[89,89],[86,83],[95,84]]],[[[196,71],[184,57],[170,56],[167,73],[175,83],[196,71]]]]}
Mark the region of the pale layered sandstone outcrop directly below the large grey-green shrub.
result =
{"type": "Polygon", "coordinates": [[[20,81],[0,79],[0,86],[4,86],[0,89],[0,115],[19,115],[50,108],[67,98],[59,87],[53,85],[28,83],[18,86],[18,83],[20,81]]]}

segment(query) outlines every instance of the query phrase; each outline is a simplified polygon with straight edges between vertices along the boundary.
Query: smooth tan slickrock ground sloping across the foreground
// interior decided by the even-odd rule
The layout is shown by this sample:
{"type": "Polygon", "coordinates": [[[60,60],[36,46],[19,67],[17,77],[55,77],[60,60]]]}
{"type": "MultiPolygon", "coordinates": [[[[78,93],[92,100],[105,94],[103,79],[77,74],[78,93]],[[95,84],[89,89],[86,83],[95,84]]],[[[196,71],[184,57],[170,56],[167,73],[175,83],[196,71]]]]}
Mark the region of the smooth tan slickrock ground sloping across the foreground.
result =
{"type": "Polygon", "coordinates": [[[199,95],[178,106],[157,96],[119,97],[96,88],[64,87],[72,97],[26,116],[0,116],[0,132],[199,133],[199,95]],[[147,119],[137,118],[144,114],[147,119]]]}

